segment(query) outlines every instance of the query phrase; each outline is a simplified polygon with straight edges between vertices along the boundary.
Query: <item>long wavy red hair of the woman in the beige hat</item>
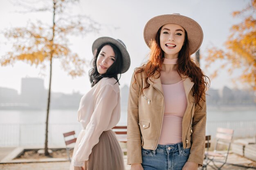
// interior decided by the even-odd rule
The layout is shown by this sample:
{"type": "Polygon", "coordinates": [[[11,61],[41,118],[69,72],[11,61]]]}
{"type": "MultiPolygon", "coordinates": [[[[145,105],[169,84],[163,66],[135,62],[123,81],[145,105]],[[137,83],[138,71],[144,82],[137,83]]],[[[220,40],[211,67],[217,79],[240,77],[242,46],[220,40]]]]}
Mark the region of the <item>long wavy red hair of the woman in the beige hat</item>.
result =
{"type": "MultiPolygon", "coordinates": [[[[146,75],[146,79],[148,77],[154,76],[155,72],[158,72],[156,75],[159,78],[160,77],[160,71],[162,68],[162,64],[164,62],[164,53],[160,47],[160,31],[162,27],[158,30],[157,35],[155,37],[155,40],[151,40],[150,42],[150,56],[148,59],[148,62],[146,64],[143,64],[142,67],[137,68],[135,71],[135,82],[136,82],[136,74],[144,72],[146,75]]],[[[179,52],[178,60],[177,60],[177,72],[180,75],[188,76],[192,79],[194,82],[194,86],[192,88],[193,90],[193,97],[195,97],[195,104],[198,104],[200,108],[202,109],[202,106],[200,105],[200,101],[204,100],[202,97],[205,95],[206,88],[209,87],[210,79],[198,67],[195,62],[190,57],[189,53],[189,41],[187,38],[187,33],[185,31],[185,42],[182,46],[182,49],[179,52]],[[207,81],[209,80],[209,82],[207,81]]],[[[152,81],[150,79],[150,81],[152,81]]],[[[134,83],[135,83],[134,82],[134,83]]],[[[149,83],[146,81],[146,87],[149,87],[149,83]]],[[[145,89],[143,88],[143,90],[145,89]]],[[[142,93],[143,93],[142,90],[142,93]]],[[[205,100],[204,100],[205,101],[205,100]]]]}

